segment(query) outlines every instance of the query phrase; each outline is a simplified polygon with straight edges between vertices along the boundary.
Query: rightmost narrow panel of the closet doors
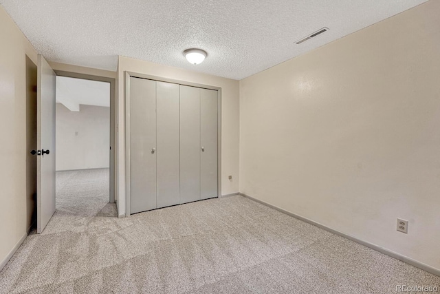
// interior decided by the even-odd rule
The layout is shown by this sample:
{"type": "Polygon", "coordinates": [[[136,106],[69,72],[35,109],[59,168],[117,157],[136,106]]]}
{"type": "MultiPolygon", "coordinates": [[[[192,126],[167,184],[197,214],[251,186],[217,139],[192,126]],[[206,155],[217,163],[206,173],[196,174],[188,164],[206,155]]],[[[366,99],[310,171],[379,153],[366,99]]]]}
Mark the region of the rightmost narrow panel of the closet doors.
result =
{"type": "Polygon", "coordinates": [[[200,196],[217,197],[217,91],[200,89],[200,196]]]}

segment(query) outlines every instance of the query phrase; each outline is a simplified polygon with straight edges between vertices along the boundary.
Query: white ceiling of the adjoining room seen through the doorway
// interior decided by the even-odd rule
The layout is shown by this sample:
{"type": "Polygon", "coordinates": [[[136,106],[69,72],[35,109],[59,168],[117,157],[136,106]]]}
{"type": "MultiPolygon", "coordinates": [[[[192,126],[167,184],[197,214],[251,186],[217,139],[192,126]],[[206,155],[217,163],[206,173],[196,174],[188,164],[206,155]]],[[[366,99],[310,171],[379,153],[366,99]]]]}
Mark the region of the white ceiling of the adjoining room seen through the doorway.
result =
{"type": "Polygon", "coordinates": [[[71,112],[81,104],[110,107],[110,83],[56,76],[56,102],[71,112]]]}

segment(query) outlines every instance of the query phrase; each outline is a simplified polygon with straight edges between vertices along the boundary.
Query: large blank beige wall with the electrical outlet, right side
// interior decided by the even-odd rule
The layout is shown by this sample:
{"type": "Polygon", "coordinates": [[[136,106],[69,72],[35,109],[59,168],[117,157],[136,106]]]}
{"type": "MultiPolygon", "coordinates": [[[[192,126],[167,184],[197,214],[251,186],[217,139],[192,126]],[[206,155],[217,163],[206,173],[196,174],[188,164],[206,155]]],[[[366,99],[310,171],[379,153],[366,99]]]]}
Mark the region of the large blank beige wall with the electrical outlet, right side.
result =
{"type": "Polygon", "coordinates": [[[240,81],[240,191],[440,269],[439,15],[429,1],[240,81]]]}

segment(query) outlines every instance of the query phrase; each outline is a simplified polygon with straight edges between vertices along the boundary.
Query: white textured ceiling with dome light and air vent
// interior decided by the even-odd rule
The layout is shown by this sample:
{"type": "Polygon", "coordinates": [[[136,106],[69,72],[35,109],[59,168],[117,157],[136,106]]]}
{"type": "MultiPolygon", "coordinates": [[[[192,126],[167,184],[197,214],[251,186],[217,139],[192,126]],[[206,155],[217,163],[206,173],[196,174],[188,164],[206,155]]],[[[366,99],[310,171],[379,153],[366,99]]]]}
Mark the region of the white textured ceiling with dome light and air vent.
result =
{"type": "MultiPolygon", "coordinates": [[[[426,0],[0,0],[46,59],[116,70],[118,55],[241,79],[426,0]],[[329,32],[295,41],[327,27],[329,32]],[[191,65],[182,52],[208,58],[191,65]]],[[[434,1],[434,0],[432,0],[434,1]]]]}

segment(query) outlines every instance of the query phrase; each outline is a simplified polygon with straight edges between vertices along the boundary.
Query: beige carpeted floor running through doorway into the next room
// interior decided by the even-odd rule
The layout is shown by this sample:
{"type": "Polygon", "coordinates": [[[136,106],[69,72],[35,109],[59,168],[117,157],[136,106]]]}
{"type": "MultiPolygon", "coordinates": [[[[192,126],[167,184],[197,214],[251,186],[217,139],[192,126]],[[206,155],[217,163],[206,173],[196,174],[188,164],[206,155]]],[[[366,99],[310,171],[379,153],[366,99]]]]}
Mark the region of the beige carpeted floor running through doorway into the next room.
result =
{"type": "Polygon", "coordinates": [[[108,170],[57,174],[57,210],[0,293],[395,293],[440,277],[241,196],[116,218],[108,170]]]}

